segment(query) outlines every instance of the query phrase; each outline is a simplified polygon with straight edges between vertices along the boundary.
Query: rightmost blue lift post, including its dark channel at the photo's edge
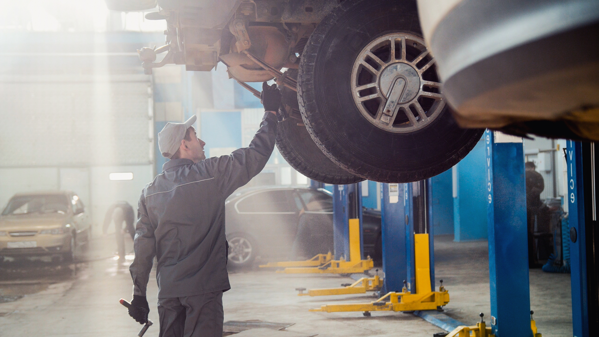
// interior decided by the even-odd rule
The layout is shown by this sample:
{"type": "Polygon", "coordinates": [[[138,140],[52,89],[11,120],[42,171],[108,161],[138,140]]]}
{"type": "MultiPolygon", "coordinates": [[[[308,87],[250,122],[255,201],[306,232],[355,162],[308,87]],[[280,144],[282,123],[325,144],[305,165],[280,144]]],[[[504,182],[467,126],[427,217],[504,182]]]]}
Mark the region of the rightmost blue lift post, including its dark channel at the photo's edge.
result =
{"type": "Polygon", "coordinates": [[[572,328],[576,337],[591,336],[591,326],[599,323],[597,157],[594,143],[567,141],[565,202],[570,222],[572,328]]]}

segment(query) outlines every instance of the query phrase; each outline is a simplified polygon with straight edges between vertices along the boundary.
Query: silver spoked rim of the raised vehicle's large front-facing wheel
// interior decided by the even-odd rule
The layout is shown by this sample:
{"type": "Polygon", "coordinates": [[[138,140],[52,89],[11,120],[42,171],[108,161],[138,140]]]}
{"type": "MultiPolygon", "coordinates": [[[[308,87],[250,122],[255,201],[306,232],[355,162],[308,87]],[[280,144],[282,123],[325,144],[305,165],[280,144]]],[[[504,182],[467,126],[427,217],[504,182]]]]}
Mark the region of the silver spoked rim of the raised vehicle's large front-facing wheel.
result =
{"type": "Polygon", "coordinates": [[[416,35],[391,33],[376,38],[353,64],[356,106],[368,122],[385,131],[410,133],[426,127],[445,107],[443,86],[431,69],[434,62],[424,40],[416,35]],[[379,56],[385,53],[388,58],[383,60],[379,56]]]}

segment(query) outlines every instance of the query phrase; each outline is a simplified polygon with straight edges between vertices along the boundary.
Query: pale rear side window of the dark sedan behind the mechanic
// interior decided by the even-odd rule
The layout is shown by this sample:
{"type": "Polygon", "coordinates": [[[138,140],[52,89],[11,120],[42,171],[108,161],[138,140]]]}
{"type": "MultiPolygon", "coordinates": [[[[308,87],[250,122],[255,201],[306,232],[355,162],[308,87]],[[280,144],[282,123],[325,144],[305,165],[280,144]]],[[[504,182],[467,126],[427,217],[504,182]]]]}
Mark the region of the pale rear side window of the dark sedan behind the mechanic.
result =
{"type": "Polygon", "coordinates": [[[237,203],[239,212],[250,213],[295,213],[297,210],[290,202],[292,191],[265,191],[249,195],[237,203]]]}

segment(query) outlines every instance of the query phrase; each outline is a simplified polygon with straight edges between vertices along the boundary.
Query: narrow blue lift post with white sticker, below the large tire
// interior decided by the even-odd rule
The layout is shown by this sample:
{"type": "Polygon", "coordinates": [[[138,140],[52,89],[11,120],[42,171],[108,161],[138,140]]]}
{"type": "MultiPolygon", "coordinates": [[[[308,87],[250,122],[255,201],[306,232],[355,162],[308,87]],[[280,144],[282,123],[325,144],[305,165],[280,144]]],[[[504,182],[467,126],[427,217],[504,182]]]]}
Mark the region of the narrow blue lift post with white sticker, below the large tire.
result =
{"type": "Polygon", "coordinates": [[[382,294],[401,291],[406,274],[406,216],[404,183],[383,183],[380,201],[383,241],[382,294]]]}

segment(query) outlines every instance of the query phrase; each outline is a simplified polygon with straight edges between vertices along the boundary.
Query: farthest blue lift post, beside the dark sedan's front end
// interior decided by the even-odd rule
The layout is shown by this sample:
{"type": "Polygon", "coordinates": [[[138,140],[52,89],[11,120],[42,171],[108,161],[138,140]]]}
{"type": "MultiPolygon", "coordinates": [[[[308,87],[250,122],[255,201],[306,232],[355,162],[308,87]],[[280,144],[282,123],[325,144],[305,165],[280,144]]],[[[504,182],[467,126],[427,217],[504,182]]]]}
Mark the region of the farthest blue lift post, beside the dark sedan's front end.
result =
{"type": "MultiPolygon", "coordinates": [[[[333,250],[335,260],[349,261],[349,219],[360,219],[360,252],[362,248],[362,190],[360,183],[333,185],[333,250]]],[[[361,257],[364,259],[364,257],[361,257]]]]}

